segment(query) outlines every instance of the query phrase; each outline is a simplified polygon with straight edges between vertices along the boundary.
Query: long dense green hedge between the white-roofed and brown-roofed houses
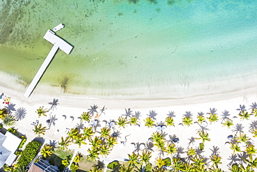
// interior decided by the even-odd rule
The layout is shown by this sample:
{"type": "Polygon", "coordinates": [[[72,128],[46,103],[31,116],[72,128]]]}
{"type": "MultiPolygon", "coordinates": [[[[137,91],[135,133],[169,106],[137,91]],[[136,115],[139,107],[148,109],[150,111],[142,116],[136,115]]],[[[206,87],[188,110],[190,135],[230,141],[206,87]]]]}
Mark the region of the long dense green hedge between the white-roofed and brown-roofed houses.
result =
{"type": "Polygon", "coordinates": [[[28,166],[28,164],[34,159],[35,155],[37,155],[40,146],[42,146],[42,143],[39,141],[29,142],[23,150],[22,155],[19,157],[17,166],[28,166]]]}

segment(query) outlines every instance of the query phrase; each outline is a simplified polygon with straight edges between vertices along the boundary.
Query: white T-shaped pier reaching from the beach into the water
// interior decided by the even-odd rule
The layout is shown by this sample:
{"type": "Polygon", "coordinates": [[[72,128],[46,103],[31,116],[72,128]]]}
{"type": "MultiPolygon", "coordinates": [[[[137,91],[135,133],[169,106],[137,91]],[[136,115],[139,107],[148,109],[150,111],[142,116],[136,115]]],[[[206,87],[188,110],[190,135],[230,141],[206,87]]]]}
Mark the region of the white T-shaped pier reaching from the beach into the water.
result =
{"type": "Polygon", "coordinates": [[[51,51],[49,52],[49,54],[47,55],[47,58],[44,60],[44,63],[42,63],[42,65],[41,65],[40,69],[38,70],[37,74],[35,75],[35,77],[31,81],[31,84],[28,86],[26,92],[24,93],[24,96],[27,97],[27,98],[31,95],[35,86],[38,84],[38,81],[40,80],[40,78],[44,74],[44,71],[47,69],[47,66],[49,65],[49,63],[53,59],[53,56],[56,54],[57,50],[61,49],[66,54],[69,54],[70,52],[72,52],[72,49],[73,49],[72,45],[69,45],[67,42],[65,42],[65,40],[56,36],[56,34],[51,30],[47,31],[47,33],[44,35],[44,39],[51,42],[53,44],[53,47],[52,47],[51,51]]]}

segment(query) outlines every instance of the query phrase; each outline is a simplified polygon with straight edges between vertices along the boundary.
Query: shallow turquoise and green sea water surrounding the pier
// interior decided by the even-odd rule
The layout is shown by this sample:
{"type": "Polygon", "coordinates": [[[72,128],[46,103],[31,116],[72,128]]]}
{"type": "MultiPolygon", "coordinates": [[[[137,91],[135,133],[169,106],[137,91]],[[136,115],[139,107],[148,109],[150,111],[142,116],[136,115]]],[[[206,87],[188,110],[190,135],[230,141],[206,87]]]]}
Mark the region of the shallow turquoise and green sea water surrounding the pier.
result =
{"type": "Polygon", "coordinates": [[[57,34],[74,50],[59,50],[40,84],[93,97],[163,98],[257,74],[256,10],[254,0],[3,0],[0,70],[29,84],[52,47],[44,33],[63,23],[57,34]]]}

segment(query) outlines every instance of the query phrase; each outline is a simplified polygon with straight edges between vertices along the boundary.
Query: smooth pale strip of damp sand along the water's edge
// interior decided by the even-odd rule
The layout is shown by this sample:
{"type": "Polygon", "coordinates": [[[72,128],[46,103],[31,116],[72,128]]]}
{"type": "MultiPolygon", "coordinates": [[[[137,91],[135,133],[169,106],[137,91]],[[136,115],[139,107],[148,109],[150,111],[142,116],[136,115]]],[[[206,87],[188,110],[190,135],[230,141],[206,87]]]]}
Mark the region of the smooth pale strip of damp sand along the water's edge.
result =
{"type": "MultiPolygon", "coordinates": [[[[26,99],[21,97],[26,91],[24,84],[20,82],[15,76],[8,75],[0,72],[0,88],[2,92],[14,95],[18,100],[23,102],[38,102],[44,103],[44,100],[48,100],[48,97],[63,97],[65,104],[72,107],[83,107],[84,105],[78,104],[78,102],[84,102],[83,104],[92,104],[92,102],[99,102],[106,104],[108,107],[113,108],[144,108],[144,107],[168,107],[170,105],[179,104],[195,104],[204,102],[213,102],[216,100],[229,100],[235,97],[247,97],[255,96],[257,90],[257,75],[248,75],[242,77],[236,77],[228,81],[214,81],[213,83],[206,84],[191,84],[188,87],[174,86],[173,91],[167,90],[163,93],[152,91],[147,93],[149,88],[138,88],[138,91],[133,89],[125,89],[124,93],[113,90],[113,95],[101,95],[102,93],[95,90],[88,90],[88,96],[63,93],[62,88],[55,86],[47,86],[46,84],[38,84],[33,91],[30,98],[26,99]],[[166,92],[166,93],[165,93],[166,92]],[[95,93],[96,95],[90,95],[95,93]],[[138,95],[136,94],[138,93],[138,95]],[[144,93],[142,95],[142,93],[144,93]],[[99,95],[97,95],[99,94],[99,95]],[[101,96],[100,96],[101,95],[101,96]],[[163,98],[160,98],[163,97],[163,98]],[[74,101],[71,101],[74,100],[74,101]],[[92,101],[93,100],[93,101],[92,101]]],[[[80,88],[78,88],[79,90],[80,88]]],[[[165,88],[163,88],[165,89],[165,88]]],[[[122,91],[121,91],[122,92],[122,91]]]]}

